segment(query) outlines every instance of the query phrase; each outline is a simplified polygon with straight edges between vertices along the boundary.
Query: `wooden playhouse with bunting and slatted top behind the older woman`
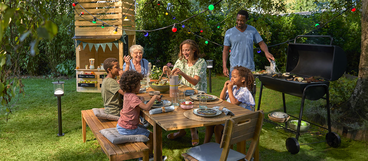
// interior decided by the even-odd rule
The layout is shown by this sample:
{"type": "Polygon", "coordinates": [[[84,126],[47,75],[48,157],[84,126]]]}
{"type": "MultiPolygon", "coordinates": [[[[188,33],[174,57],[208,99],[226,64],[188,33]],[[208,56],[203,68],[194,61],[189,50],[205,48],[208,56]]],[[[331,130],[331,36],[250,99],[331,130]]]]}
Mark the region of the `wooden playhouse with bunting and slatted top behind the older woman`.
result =
{"type": "Polygon", "coordinates": [[[135,30],[134,1],[79,0],[78,2],[74,10],[75,36],[72,38],[75,39],[75,57],[79,67],[75,69],[77,91],[97,93],[101,92],[101,83],[106,76],[106,71],[98,70],[98,67],[109,57],[116,58],[123,67],[123,56],[128,55],[130,46],[135,45],[135,31],[121,30],[135,30]],[[103,23],[98,20],[96,23],[89,22],[93,20],[93,16],[87,11],[103,22],[120,29],[114,34],[115,27],[105,24],[102,28],[103,23]],[[84,14],[79,16],[81,12],[84,14]],[[90,69],[90,59],[94,59],[94,69],[90,69]],[[80,81],[89,83],[79,83],[80,81]]]}

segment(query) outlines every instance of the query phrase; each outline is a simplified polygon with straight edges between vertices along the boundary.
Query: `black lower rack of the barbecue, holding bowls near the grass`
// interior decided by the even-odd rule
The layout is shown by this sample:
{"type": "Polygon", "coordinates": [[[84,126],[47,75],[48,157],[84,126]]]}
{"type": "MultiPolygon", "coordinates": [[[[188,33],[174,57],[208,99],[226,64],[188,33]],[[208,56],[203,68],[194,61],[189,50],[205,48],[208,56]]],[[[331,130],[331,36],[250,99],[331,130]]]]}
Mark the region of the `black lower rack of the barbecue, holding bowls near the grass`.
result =
{"type": "MultiPolygon", "coordinates": [[[[298,120],[298,117],[295,117],[295,116],[290,116],[290,119],[288,121],[291,120],[291,118],[295,118],[293,120],[298,120]]],[[[291,132],[293,134],[297,134],[297,131],[291,129],[289,127],[289,124],[288,124],[288,121],[284,122],[284,123],[276,123],[272,120],[270,120],[268,117],[264,119],[266,122],[270,123],[270,124],[273,124],[274,126],[276,126],[276,128],[282,128],[284,129],[285,131],[287,132],[291,132]]],[[[305,120],[303,120],[305,121],[305,120]]],[[[321,127],[321,126],[318,126],[314,123],[311,123],[309,121],[305,121],[305,122],[308,122],[310,125],[309,125],[309,130],[308,131],[304,131],[304,132],[299,132],[299,136],[306,136],[307,134],[310,134],[310,135],[324,135],[324,134],[327,134],[328,133],[328,129],[327,128],[324,128],[324,127],[321,127]]],[[[310,136],[309,135],[309,136],[310,136]]]]}

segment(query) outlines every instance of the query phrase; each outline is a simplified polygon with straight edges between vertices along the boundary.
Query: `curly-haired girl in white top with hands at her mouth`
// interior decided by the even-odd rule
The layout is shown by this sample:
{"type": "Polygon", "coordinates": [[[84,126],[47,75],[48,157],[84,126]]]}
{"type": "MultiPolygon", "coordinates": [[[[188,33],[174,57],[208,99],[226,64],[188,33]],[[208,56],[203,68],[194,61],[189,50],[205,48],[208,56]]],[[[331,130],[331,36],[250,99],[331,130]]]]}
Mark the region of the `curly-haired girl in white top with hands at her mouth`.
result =
{"type": "MultiPolygon", "coordinates": [[[[255,105],[254,98],[250,92],[253,89],[253,82],[254,77],[251,70],[237,65],[231,73],[231,81],[225,82],[220,98],[251,110],[251,106],[255,105]]],[[[216,143],[220,143],[223,130],[224,124],[207,126],[204,143],[210,142],[213,132],[215,132],[216,143]]]]}

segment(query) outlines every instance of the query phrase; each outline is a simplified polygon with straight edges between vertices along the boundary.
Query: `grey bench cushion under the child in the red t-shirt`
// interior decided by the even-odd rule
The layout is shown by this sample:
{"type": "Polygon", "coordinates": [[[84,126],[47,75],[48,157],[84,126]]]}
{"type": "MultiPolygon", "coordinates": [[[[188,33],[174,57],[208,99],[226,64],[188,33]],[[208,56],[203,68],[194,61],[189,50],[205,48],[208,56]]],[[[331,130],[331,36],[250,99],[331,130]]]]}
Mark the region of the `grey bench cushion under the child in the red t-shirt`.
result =
{"type": "Polygon", "coordinates": [[[116,127],[100,130],[100,133],[105,136],[113,144],[121,144],[126,142],[147,142],[149,139],[145,135],[120,135],[116,127]]]}

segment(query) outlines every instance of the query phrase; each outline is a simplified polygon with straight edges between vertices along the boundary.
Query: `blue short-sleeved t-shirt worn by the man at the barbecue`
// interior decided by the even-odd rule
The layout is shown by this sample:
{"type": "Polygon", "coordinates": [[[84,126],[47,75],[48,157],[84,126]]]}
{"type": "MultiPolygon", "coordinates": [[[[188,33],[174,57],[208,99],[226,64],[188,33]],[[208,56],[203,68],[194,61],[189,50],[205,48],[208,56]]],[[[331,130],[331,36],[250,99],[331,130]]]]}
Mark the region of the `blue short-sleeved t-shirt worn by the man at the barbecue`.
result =
{"type": "Polygon", "coordinates": [[[253,42],[259,43],[262,40],[261,35],[251,25],[248,25],[244,32],[236,27],[227,30],[224,45],[230,46],[230,67],[241,65],[250,70],[254,69],[253,42]]]}

